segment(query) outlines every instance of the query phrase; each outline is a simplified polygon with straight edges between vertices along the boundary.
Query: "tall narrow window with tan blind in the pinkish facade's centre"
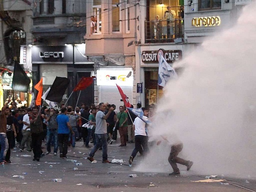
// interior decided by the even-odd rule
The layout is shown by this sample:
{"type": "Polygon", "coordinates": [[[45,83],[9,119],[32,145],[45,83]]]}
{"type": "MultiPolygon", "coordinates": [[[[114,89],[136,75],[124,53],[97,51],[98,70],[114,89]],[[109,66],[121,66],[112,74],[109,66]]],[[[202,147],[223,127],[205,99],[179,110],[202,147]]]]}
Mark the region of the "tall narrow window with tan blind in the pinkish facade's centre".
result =
{"type": "Polygon", "coordinates": [[[119,0],[112,0],[112,32],[120,31],[119,0]]]}

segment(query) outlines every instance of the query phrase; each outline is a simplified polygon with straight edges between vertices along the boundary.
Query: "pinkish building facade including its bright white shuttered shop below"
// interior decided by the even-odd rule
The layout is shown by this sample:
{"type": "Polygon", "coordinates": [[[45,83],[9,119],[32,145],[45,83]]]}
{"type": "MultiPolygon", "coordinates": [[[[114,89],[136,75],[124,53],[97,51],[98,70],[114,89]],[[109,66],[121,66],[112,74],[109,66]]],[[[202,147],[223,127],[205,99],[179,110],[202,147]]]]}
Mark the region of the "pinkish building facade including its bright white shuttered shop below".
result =
{"type": "Polygon", "coordinates": [[[94,102],[123,105],[116,84],[135,102],[135,44],[138,10],[135,1],[93,0],[86,4],[86,56],[94,62],[94,102]],[[128,75],[130,74],[130,75],[128,75]]]}

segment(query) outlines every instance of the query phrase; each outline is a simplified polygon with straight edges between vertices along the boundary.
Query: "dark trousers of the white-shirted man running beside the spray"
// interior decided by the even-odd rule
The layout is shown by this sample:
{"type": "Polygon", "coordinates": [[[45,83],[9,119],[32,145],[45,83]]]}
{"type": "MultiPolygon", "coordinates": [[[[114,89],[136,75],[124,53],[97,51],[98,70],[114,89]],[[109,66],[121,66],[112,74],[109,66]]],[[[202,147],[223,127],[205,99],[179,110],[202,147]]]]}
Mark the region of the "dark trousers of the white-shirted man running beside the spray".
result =
{"type": "Polygon", "coordinates": [[[132,151],[132,158],[135,158],[137,153],[142,151],[143,155],[148,152],[147,136],[144,135],[135,135],[135,148],[132,151]]]}

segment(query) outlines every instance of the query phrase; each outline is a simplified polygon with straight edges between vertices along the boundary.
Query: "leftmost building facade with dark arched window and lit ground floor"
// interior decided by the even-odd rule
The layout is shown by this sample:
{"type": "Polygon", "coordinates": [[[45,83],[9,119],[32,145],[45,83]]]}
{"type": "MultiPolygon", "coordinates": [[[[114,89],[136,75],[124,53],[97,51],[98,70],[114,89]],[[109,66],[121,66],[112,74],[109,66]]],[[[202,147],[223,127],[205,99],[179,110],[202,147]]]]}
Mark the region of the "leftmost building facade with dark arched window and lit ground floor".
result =
{"type": "Polygon", "coordinates": [[[31,7],[30,1],[0,1],[0,108],[7,98],[20,98],[25,102],[31,98],[30,90],[22,93],[11,89],[15,62],[19,62],[30,76],[31,54],[28,44],[32,42],[31,7]]]}

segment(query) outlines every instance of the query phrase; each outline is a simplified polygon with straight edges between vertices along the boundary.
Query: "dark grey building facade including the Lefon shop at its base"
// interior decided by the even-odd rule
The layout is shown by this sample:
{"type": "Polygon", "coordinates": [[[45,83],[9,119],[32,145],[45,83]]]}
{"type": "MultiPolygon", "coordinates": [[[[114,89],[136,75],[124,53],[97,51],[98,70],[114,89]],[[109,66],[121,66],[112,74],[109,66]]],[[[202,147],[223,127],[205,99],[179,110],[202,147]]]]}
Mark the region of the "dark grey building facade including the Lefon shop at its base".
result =
{"type": "MultiPolygon", "coordinates": [[[[94,70],[84,55],[83,35],[86,31],[86,2],[83,0],[40,0],[33,8],[32,65],[33,85],[42,77],[44,90],[52,85],[56,76],[70,79],[61,103],[65,103],[72,90],[84,76],[94,70]]],[[[74,92],[68,105],[94,102],[94,86],[74,92]]]]}

